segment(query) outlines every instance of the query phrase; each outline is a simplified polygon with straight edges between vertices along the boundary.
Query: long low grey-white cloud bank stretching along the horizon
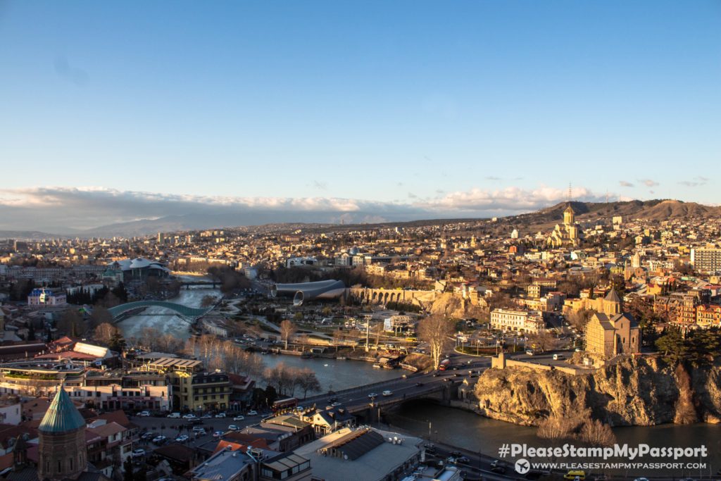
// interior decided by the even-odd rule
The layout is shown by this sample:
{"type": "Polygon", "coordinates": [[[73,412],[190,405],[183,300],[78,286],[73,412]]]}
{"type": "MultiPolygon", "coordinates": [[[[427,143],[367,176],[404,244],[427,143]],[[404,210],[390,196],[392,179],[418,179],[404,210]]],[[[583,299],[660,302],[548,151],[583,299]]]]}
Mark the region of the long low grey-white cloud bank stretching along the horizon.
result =
{"type": "MultiPolygon", "coordinates": [[[[275,222],[340,222],[341,219],[350,223],[379,219],[410,221],[487,217],[523,213],[553,205],[565,200],[567,190],[545,186],[530,190],[505,187],[499,190],[474,188],[453,193],[436,190],[435,194],[435,198],[421,198],[408,193],[407,200],[381,202],[327,197],[182,195],[104,187],[0,189],[0,229],[63,234],[141,219],[164,219],[166,224],[163,225],[170,225],[167,229],[182,230],[182,226],[192,224],[187,220],[191,218],[200,221],[195,221],[194,226],[187,229],[275,222]],[[177,220],[177,224],[168,224],[173,219],[177,220]]],[[[572,196],[575,200],[598,202],[604,198],[583,187],[575,187],[572,196]]],[[[153,228],[149,222],[148,229],[153,228]]]]}

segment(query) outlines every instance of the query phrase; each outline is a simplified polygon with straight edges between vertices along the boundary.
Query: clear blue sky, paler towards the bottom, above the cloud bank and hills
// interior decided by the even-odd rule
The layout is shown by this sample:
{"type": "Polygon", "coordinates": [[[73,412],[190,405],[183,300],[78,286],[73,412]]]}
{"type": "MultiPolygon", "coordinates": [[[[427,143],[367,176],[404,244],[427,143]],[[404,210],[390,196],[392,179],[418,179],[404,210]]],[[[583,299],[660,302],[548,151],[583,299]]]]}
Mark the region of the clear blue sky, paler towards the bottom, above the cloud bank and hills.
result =
{"type": "Polygon", "coordinates": [[[0,1],[0,65],[6,206],[721,202],[720,1],[0,1]]]}

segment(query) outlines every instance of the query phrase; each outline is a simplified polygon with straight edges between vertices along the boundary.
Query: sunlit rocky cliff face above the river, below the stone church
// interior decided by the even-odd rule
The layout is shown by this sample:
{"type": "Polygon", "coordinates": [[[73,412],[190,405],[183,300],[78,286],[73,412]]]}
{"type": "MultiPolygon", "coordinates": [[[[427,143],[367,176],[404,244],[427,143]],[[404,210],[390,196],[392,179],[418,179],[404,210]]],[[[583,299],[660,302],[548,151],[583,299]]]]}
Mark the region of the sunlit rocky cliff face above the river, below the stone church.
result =
{"type": "Polygon", "coordinates": [[[549,415],[588,407],[611,425],[721,421],[721,362],[693,369],[661,358],[627,358],[593,374],[488,369],[476,385],[489,418],[536,425],[549,415]]]}

